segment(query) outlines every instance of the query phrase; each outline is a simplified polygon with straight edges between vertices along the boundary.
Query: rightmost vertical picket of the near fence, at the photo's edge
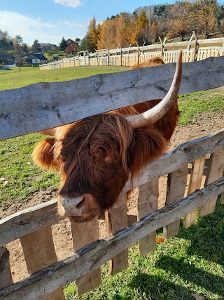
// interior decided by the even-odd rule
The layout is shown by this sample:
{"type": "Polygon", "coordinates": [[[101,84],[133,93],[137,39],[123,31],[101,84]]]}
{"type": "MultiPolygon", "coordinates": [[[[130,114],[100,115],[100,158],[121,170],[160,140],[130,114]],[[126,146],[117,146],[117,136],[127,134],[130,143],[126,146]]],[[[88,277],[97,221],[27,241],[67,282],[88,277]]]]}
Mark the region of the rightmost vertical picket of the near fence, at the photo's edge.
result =
{"type": "MultiPolygon", "coordinates": [[[[221,148],[211,154],[207,180],[205,185],[208,185],[223,176],[224,171],[224,148],[221,148]]],[[[200,207],[199,216],[206,216],[212,214],[216,208],[217,197],[211,200],[209,203],[200,207]]]]}

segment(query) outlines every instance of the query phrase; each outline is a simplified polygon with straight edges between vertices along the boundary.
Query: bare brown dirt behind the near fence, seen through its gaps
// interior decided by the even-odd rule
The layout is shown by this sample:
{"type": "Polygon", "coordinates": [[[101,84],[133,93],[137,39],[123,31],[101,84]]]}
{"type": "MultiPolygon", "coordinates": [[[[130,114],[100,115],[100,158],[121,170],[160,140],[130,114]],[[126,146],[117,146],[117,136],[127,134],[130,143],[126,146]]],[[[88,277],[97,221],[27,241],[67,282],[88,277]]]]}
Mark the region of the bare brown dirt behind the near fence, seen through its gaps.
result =
{"type": "MultiPolygon", "coordinates": [[[[207,136],[209,133],[214,133],[224,127],[223,113],[201,113],[195,122],[188,126],[177,127],[174,132],[172,141],[169,145],[169,151],[176,148],[181,143],[186,141],[194,140],[195,138],[201,138],[207,136]]],[[[160,178],[160,199],[159,205],[165,202],[167,187],[167,176],[160,178]]],[[[132,199],[128,204],[128,214],[130,214],[129,221],[134,223],[137,220],[136,217],[136,200],[137,200],[138,189],[135,189],[132,193],[132,199]]],[[[56,191],[40,190],[27,200],[26,203],[9,204],[6,207],[0,208],[0,218],[14,214],[16,211],[32,207],[36,204],[40,204],[51,200],[56,197],[56,191]]],[[[105,237],[105,222],[99,220],[99,232],[100,237],[105,237]]],[[[70,230],[69,220],[65,219],[52,226],[52,235],[55,243],[55,250],[57,258],[59,260],[66,258],[73,252],[73,244],[70,230]]],[[[10,242],[7,245],[10,251],[10,268],[12,270],[13,281],[22,280],[28,276],[25,259],[22,254],[22,247],[19,240],[10,242]],[[18,270],[18,266],[20,266],[18,270]]]]}

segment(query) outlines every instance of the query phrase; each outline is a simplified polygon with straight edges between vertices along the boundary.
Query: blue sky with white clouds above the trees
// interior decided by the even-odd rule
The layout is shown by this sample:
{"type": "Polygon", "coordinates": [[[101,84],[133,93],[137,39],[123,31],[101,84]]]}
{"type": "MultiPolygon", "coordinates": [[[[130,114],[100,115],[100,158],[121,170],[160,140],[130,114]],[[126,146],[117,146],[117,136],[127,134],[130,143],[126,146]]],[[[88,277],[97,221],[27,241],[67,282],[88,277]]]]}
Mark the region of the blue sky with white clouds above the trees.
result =
{"type": "Polygon", "coordinates": [[[64,39],[82,39],[94,16],[97,22],[123,11],[132,13],[139,6],[173,4],[174,0],[0,0],[0,30],[10,37],[20,34],[31,46],[58,45],[64,39]]]}

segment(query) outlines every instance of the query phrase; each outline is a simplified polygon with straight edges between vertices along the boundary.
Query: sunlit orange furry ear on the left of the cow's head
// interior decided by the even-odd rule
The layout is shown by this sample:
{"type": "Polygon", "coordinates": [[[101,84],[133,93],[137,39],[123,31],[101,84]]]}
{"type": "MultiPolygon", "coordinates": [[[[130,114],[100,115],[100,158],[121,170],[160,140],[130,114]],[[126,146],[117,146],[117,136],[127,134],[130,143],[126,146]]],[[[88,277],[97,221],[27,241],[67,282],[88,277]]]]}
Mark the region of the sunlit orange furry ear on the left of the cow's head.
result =
{"type": "Polygon", "coordinates": [[[55,138],[46,138],[39,142],[32,153],[35,164],[42,169],[52,169],[58,171],[57,162],[55,162],[55,138]]]}

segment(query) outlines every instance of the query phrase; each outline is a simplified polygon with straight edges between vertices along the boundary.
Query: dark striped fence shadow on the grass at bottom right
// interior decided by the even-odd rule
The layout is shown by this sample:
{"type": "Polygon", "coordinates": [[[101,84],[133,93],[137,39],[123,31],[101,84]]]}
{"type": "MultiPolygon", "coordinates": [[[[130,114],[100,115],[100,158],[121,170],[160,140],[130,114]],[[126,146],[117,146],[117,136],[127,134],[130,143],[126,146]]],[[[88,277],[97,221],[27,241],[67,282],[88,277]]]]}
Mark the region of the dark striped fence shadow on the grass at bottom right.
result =
{"type": "MultiPolygon", "coordinates": [[[[218,272],[213,270],[212,265],[218,263],[224,267],[224,206],[219,200],[214,214],[197,219],[196,224],[188,229],[181,228],[179,235],[174,239],[190,240],[190,246],[185,250],[184,256],[180,253],[179,257],[174,257],[169,251],[162,253],[161,248],[159,258],[155,261],[155,268],[170,275],[170,280],[162,275],[139,273],[132,278],[130,287],[145,293],[146,299],[153,300],[195,299],[191,296],[193,291],[190,291],[193,286],[197,286],[198,290],[207,290],[208,294],[216,294],[216,299],[224,299],[224,269],[220,268],[219,270],[222,270],[218,272]],[[203,266],[204,260],[207,261],[206,266],[203,266]],[[202,268],[198,267],[200,263],[202,268]],[[180,281],[184,282],[185,286],[181,285],[180,281]]],[[[175,244],[175,240],[172,243],[175,244]]],[[[169,242],[164,247],[169,248],[169,242]]]]}

